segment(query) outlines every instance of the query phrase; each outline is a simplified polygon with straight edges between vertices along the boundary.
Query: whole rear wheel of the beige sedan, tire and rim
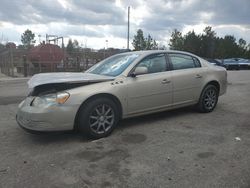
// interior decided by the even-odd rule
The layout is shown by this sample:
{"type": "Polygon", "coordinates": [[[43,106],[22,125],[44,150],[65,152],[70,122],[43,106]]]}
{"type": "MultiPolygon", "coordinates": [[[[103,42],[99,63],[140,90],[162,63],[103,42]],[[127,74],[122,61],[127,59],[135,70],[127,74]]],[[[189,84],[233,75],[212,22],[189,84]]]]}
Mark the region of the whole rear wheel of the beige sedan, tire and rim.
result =
{"type": "Polygon", "coordinates": [[[212,112],[217,105],[219,97],[218,88],[214,85],[207,85],[200,96],[197,108],[202,113],[212,112]]]}

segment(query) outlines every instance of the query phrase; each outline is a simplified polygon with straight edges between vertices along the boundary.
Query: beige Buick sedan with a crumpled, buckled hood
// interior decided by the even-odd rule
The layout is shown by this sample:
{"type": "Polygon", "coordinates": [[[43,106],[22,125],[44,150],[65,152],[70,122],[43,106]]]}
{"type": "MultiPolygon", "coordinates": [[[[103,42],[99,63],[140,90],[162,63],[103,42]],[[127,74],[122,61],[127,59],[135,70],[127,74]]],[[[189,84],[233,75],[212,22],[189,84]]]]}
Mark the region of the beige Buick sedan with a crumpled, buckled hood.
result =
{"type": "Polygon", "coordinates": [[[84,73],[41,73],[28,81],[18,124],[28,131],[77,129],[109,135],[119,120],[193,105],[211,112],[227,89],[225,68],[181,51],[111,56],[84,73]]]}

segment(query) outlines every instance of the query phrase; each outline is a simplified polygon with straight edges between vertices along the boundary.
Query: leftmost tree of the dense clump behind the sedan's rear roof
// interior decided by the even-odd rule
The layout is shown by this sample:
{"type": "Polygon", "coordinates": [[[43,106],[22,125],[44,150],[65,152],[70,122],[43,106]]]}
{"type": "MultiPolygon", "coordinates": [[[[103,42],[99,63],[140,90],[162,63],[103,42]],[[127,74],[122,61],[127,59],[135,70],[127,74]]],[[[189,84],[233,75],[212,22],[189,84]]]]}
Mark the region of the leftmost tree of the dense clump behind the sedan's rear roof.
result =
{"type": "Polygon", "coordinates": [[[171,39],[170,39],[170,49],[171,50],[183,50],[183,37],[182,33],[178,31],[177,29],[174,29],[174,31],[171,34],[171,39]]]}

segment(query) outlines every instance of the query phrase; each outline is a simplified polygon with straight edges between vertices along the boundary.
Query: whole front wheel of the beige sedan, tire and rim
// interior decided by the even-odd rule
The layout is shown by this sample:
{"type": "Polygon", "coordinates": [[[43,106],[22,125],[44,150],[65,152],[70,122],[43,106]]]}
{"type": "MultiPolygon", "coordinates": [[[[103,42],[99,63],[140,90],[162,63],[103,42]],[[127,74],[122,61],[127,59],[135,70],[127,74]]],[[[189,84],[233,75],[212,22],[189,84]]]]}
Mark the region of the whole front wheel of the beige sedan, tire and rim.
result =
{"type": "Polygon", "coordinates": [[[105,97],[88,101],[78,113],[79,130],[93,139],[110,135],[119,121],[116,103],[105,97]]]}

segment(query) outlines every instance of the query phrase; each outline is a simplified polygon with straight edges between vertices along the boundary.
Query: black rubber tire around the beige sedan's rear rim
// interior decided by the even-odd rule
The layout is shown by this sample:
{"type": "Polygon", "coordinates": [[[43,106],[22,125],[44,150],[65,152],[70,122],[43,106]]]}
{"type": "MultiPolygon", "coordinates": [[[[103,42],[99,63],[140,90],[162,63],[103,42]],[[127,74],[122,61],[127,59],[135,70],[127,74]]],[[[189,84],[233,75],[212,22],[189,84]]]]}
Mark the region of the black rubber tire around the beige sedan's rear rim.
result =
{"type": "Polygon", "coordinates": [[[207,86],[203,89],[202,94],[201,94],[201,97],[200,97],[200,100],[199,100],[199,104],[198,104],[199,111],[204,112],[204,113],[212,112],[212,111],[214,110],[214,108],[216,107],[216,105],[217,105],[218,97],[219,97],[219,93],[218,93],[217,87],[214,86],[214,85],[207,85],[207,86]],[[206,108],[206,105],[204,104],[204,99],[205,99],[205,94],[206,94],[206,92],[209,91],[209,90],[211,90],[211,89],[215,90],[215,93],[216,93],[216,101],[215,101],[215,105],[213,106],[213,108],[208,109],[208,108],[206,108]]]}

